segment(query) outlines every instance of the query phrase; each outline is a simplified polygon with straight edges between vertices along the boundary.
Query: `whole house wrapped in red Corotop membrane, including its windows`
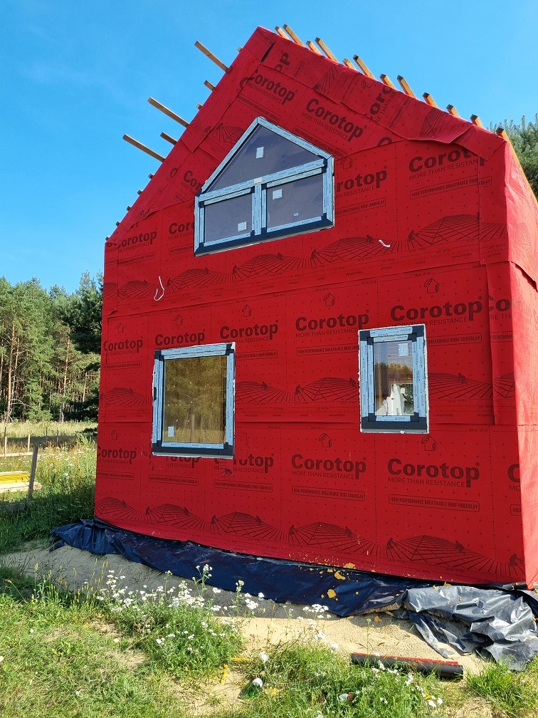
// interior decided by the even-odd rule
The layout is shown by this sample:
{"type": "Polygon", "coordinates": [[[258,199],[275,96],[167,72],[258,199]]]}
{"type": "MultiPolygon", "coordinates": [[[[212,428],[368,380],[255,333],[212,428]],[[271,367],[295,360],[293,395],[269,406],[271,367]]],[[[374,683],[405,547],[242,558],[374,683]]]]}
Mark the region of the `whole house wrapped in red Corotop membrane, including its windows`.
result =
{"type": "Polygon", "coordinates": [[[96,516],[531,586],[537,227],[505,136],[256,29],[106,243],[96,516]]]}

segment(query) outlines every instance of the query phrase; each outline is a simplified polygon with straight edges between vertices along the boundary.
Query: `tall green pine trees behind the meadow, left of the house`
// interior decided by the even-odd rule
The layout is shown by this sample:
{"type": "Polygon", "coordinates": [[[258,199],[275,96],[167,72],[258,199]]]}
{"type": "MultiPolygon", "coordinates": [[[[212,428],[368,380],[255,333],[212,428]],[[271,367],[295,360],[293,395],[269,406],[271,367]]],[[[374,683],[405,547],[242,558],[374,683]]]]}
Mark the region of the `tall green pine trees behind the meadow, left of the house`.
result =
{"type": "Polygon", "coordinates": [[[102,281],[76,292],[0,276],[0,420],[97,416],[102,281]]]}

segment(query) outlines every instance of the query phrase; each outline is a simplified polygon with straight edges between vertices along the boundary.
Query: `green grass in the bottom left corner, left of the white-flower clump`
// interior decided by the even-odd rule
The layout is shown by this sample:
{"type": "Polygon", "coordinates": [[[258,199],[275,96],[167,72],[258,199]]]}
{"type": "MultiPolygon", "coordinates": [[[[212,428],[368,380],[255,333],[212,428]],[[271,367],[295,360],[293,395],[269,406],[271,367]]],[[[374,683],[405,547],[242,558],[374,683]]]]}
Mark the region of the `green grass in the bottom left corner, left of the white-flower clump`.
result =
{"type": "MultiPolygon", "coordinates": [[[[163,671],[133,661],[95,607],[46,582],[0,592],[0,714],[5,718],[182,718],[184,701],[163,671]],[[17,591],[19,595],[17,595],[17,591]],[[115,640],[117,642],[115,642],[115,640]]],[[[4,576],[5,583],[5,576],[4,576]]],[[[8,584],[9,585],[9,584],[8,584]]]]}

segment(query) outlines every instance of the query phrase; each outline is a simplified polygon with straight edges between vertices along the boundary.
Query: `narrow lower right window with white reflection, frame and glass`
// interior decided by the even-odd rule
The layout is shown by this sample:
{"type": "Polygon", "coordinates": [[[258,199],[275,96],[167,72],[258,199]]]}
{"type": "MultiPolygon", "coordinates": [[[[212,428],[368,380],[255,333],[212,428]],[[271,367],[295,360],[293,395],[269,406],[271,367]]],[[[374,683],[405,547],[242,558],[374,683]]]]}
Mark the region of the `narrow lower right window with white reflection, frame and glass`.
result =
{"type": "Polygon", "coordinates": [[[359,331],[361,431],[428,432],[425,325],[359,331]]]}

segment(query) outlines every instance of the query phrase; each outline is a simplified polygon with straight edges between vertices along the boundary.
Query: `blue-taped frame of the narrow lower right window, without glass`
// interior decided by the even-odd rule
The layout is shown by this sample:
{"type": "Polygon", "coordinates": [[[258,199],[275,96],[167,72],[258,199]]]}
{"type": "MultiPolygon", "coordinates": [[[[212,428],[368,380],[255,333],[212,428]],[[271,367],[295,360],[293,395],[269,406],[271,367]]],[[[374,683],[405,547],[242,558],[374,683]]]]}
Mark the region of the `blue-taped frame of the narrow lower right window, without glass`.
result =
{"type": "Polygon", "coordinates": [[[424,324],[359,330],[359,399],[362,432],[427,434],[429,427],[428,360],[424,324]],[[413,405],[415,413],[397,416],[375,414],[374,344],[412,342],[413,405]]]}

